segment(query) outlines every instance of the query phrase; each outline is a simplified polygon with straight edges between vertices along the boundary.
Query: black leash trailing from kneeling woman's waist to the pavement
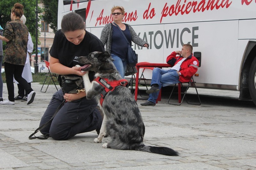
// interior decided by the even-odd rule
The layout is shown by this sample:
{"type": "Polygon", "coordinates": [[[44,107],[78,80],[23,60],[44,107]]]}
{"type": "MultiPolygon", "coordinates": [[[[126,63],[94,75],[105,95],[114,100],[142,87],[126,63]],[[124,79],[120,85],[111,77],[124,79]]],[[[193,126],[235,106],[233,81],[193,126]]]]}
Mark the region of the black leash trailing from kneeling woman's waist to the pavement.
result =
{"type": "MultiPolygon", "coordinates": [[[[68,92],[69,94],[78,94],[80,92],[84,92],[85,90],[84,89],[76,89],[76,90],[71,90],[70,92],[68,92]]],[[[60,110],[60,108],[64,105],[64,103],[66,102],[66,100],[64,99],[62,101],[62,103],[57,107],[57,109],[55,110],[52,118],[44,123],[43,125],[41,125],[40,127],[38,127],[35,132],[33,132],[29,137],[28,139],[48,139],[50,137],[49,134],[45,134],[45,135],[41,135],[41,136],[35,136],[36,133],[38,133],[41,129],[45,128],[46,126],[48,126],[49,124],[52,123],[53,121],[53,118],[55,117],[55,115],[58,113],[58,111],[60,110]]]]}

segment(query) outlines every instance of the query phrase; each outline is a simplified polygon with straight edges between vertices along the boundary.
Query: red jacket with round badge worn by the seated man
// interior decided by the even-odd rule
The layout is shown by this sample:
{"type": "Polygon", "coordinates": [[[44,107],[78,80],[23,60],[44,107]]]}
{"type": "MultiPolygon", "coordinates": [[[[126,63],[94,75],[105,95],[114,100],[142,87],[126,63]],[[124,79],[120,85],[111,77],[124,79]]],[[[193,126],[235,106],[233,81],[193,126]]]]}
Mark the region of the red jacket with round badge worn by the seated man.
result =
{"type": "MultiPolygon", "coordinates": [[[[173,51],[166,59],[166,62],[174,66],[177,62],[183,59],[181,56],[177,56],[177,53],[173,51]]],[[[196,57],[191,54],[182,63],[180,68],[181,76],[179,78],[180,82],[188,82],[192,76],[197,72],[199,62],[196,57]]]]}

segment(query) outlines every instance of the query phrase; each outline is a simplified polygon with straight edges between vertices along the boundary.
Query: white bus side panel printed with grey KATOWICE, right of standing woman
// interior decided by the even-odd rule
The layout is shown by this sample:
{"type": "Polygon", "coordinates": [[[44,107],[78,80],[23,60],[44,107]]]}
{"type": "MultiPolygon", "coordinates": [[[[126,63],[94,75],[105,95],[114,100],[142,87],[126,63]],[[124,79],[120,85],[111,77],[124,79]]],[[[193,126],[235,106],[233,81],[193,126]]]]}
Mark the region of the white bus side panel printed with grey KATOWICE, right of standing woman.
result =
{"type": "Polygon", "coordinates": [[[193,51],[202,52],[199,77],[196,77],[198,83],[238,86],[238,30],[234,29],[238,28],[238,20],[165,24],[164,29],[162,25],[133,28],[141,38],[146,35],[150,43],[150,49],[136,50],[139,62],[166,63],[172,51],[181,50],[182,43],[190,43],[193,51]]]}

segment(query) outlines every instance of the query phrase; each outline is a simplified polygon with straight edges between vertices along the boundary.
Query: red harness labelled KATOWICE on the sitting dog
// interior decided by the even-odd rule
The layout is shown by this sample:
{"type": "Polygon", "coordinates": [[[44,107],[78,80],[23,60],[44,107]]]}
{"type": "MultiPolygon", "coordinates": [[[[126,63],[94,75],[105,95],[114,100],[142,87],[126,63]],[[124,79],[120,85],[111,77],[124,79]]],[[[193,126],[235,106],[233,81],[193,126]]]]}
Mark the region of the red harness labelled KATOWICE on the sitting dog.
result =
{"type": "Polygon", "coordinates": [[[128,81],[126,79],[109,81],[109,79],[107,79],[107,78],[97,77],[96,79],[94,79],[94,81],[97,81],[101,86],[104,87],[104,90],[100,93],[100,95],[101,95],[100,105],[101,106],[102,106],[102,103],[104,101],[106,94],[108,94],[109,91],[115,90],[115,88],[117,86],[126,86],[126,84],[128,84],[128,81]]]}

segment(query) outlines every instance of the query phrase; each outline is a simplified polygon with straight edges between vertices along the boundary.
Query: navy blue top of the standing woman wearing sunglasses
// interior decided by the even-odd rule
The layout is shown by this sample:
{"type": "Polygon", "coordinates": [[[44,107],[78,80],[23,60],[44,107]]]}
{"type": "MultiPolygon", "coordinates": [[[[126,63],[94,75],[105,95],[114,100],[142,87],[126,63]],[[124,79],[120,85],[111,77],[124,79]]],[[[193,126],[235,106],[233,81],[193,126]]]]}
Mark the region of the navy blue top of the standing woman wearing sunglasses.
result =
{"type": "MultiPolygon", "coordinates": [[[[125,34],[127,40],[131,42],[131,33],[127,26],[126,26],[126,29],[123,31],[123,33],[125,34]]],[[[114,55],[117,55],[122,59],[126,59],[127,50],[128,50],[128,44],[123,34],[120,32],[120,30],[116,26],[113,26],[112,39],[111,39],[111,53],[114,55]]]]}

